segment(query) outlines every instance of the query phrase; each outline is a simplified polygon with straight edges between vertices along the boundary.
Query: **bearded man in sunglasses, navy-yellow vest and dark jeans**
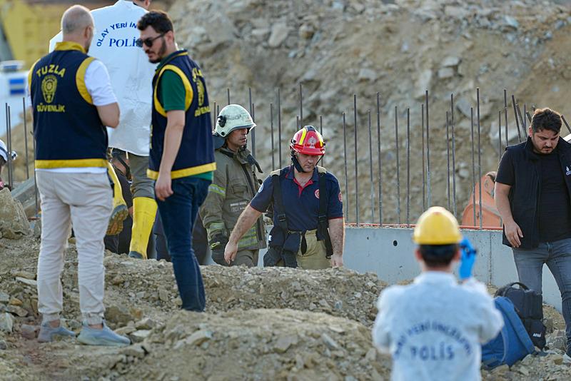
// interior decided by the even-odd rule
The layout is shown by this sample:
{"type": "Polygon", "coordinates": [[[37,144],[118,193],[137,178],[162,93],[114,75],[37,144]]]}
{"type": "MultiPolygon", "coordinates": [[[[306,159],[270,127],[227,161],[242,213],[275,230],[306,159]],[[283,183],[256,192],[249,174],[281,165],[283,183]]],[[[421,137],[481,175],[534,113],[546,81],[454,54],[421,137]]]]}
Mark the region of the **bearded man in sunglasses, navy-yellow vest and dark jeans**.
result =
{"type": "Polygon", "coordinates": [[[147,174],[156,180],[158,212],[182,308],[203,311],[204,286],[193,253],[192,230],[216,170],[206,82],[188,52],[178,49],[166,13],[148,12],[137,27],[141,31],[138,46],[151,63],[158,63],[147,174]]]}

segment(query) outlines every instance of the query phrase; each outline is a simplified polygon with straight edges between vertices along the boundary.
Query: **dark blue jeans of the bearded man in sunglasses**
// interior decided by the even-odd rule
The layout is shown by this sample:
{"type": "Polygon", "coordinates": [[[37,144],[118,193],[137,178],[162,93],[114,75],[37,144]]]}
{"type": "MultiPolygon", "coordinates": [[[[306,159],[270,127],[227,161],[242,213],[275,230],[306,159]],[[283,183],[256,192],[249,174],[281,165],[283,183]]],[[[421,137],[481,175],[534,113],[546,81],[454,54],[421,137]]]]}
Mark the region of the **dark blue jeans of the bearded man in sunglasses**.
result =
{"type": "Polygon", "coordinates": [[[178,293],[185,310],[203,311],[206,304],[201,270],[192,248],[191,232],[210,183],[202,178],[176,178],[171,184],[173,195],[164,201],[157,199],[178,293]]]}

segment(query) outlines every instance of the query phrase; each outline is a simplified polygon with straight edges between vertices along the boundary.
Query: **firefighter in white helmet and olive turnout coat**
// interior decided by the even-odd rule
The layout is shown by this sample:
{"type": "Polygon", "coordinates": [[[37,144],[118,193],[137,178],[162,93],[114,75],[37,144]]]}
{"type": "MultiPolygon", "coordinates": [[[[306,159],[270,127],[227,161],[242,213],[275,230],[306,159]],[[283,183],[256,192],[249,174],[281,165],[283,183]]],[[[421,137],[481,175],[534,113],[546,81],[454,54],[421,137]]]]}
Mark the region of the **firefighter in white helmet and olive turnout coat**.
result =
{"type": "MultiPolygon", "coordinates": [[[[200,215],[208,233],[212,259],[220,265],[228,265],[224,260],[228,237],[260,188],[256,170],[261,173],[261,168],[246,148],[248,133],[254,127],[256,123],[246,108],[231,104],[220,111],[213,133],[216,171],[200,215]]],[[[265,247],[266,229],[263,218],[258,218],[238,241],[238,254],[232,265],[256,266],[258,250],[265,247]]]]}

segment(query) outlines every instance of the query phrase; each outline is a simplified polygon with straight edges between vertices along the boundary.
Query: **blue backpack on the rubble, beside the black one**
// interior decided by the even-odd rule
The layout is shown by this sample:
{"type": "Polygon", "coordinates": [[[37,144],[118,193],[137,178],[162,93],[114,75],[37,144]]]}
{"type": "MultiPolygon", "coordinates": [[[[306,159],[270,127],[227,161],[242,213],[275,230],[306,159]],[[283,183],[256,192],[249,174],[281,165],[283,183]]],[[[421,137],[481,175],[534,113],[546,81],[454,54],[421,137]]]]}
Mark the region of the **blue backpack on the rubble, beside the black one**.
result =
{"type": "Polygon", "coordinates": [[[535,347],[527,331],[515,312],[511,300],[503,296],[494,298],[497,308],[504,318],[500,333],[482,345],[482,365],[488,370],[500,365],[512,366],[523,357],[535,353],[535,347]]]}

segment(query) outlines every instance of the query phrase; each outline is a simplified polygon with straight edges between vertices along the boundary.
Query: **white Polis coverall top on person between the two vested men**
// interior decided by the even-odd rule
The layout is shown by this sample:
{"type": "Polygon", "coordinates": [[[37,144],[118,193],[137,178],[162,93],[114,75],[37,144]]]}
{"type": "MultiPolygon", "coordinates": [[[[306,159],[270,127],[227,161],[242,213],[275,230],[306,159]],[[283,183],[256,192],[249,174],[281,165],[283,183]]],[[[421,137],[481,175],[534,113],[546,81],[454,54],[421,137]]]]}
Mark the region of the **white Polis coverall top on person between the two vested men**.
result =
{"type": "MultiPolygon", "coordinates": [[[[146,12],[127,0],[91,11],[95,36],[89,55],[107,67],[121,110],[117,128],[107,128],[109,146],[138,156],[148,156],[152,81],[156,68],[148,62],[143,49],[135,45],[139,37],[137,22],[146,12]]],[[[61,39],[59,32],[51,39],[49,51],[53,51],[61,39]]]]}

